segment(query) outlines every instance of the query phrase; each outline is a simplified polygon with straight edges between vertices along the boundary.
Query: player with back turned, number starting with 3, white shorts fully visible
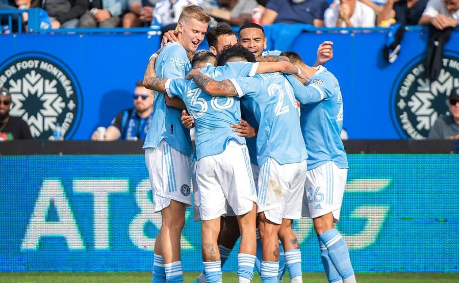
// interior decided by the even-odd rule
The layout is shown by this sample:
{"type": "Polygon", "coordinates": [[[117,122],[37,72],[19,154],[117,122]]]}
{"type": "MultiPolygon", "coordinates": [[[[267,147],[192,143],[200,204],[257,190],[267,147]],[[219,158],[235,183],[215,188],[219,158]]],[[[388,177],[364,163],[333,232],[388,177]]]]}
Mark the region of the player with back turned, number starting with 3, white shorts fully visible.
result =
{"type": "MultiPolygon", "coordinates": [[[[231,53],[233,61],[254,62],[253,56],[242,46],[225,50],[231,53]],[[244,57],[246,56],[246,57],[244,57]]],[[[223,56],[223,54],[222,54],[223,56]]],[[[238,254],[238,276],[240,282],[253,277],[256,236],[256,190],[250,170],[245,140],[231,130],[230,125],[240,118],[239,100],[233,97],[216,98],[201,90],[190,80],[161,79],[155,77],[156,56],[152,56],[147,69],[148,88],[167,91],[169,96],[181,97],[196,124],[196,181],[199,187],[199,212],[202,220],[202,257],[208,282],[221,281],[220,255],[217,237],[220,230],[220,216],[226,213],[227,204],[238,218],[241,229],[241,245],[238,254]]],[[[243,63],[234,62],[219,68],[208,64],[202,69],[214,78],[249,75],[270,66],[284,66],[283,69],[296,73],[297,68],[288,62],[243,63]]]]}

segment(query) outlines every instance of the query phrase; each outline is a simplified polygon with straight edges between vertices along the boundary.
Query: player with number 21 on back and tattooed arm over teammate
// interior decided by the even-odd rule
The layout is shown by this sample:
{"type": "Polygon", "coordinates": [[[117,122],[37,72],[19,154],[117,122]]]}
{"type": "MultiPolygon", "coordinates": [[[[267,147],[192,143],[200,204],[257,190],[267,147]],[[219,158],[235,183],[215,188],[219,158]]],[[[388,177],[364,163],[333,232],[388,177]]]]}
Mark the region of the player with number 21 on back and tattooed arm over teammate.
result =
{"type": "Polygon", "coordinates": [[[261,277],[263,282],[277,281],[280,238],[291,281],[301,282],[301,253],[291,225],[292,219],[301,217],[298,208],[304,191],[307,153],[292,87],[281,73],[217,82],[194,70],[188,77],[212,95],[237,95],[254,101],[254,114],[260,123],[257,204],[263,245],[261,277]]]}

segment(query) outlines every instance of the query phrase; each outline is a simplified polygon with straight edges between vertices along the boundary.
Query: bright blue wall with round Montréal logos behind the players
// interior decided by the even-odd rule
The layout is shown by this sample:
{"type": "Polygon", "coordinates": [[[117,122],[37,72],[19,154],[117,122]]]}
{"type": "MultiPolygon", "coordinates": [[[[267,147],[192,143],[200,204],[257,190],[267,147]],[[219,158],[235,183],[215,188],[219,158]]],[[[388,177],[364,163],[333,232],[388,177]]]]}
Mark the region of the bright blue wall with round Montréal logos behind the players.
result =
{"type": "MultiPolygon", "coordinates": [[[[326,67],[344,99],[344,127],[351,139],[423,139],[447,111],[445,99],[459,86],[459,29],[445,45],[439,79],[426,79],[427,31],[405,32],[398,59],[382,57],[386,32],[302,32],[302,25],[266,27],[268,49],[294,50],[313,64],[323,40],[334,44],[326,67]]],[[[132,107],[131,93],[143,78],[159,36],[140,34],[0,35],[0,85],[12,92],[12,115],[27,120],[35,137],[86,140],[132,107]]],[[[207,48],[206,42],[200,48],[207,48]]]]}

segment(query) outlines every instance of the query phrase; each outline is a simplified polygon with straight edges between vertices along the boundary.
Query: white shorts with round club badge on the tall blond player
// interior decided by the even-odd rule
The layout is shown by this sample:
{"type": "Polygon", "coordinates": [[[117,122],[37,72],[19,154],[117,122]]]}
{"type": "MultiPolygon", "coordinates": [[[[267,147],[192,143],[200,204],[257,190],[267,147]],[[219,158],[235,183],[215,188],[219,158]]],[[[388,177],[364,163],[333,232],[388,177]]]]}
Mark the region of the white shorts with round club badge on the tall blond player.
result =
{"type": "Polygon", "coordinates": [[[190,157],[162,140],[157,148],[145,149],[145,164],[153,189],[154,211],[167,208],[170,200],[191,205],[190,157]]]}

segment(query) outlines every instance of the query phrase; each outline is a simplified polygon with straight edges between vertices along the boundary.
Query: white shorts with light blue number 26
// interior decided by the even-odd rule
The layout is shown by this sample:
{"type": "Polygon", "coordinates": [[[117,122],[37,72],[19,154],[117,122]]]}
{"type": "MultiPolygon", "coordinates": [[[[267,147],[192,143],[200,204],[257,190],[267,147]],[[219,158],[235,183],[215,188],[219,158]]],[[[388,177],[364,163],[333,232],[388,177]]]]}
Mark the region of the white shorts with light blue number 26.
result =
{"type": "Polygon", "coordinates": [[[339,168],[331,161],[308,170],[301,215],[317,218],[331,212],[337,223],[340,220],[346,179],[347,169],[339,168]]]}

